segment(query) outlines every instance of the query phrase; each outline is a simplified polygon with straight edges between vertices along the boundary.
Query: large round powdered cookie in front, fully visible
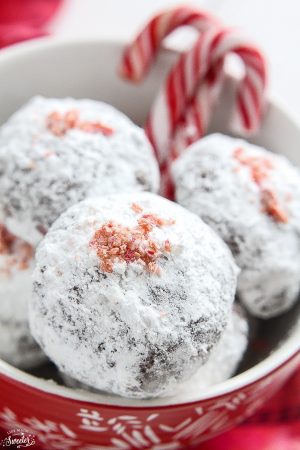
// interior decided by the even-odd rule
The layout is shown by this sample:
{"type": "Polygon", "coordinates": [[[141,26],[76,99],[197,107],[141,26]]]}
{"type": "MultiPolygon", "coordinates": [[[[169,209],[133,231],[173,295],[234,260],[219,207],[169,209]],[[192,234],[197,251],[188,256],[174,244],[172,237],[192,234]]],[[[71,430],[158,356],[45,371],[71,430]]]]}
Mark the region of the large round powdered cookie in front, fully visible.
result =
{"type": "Polygon", "coordinates": [[[147,398],[208,358],[227,324],[238,269],[196,215],[150,193],[88,199],[38,247],[31,330],[67,375],[147,398]]]}

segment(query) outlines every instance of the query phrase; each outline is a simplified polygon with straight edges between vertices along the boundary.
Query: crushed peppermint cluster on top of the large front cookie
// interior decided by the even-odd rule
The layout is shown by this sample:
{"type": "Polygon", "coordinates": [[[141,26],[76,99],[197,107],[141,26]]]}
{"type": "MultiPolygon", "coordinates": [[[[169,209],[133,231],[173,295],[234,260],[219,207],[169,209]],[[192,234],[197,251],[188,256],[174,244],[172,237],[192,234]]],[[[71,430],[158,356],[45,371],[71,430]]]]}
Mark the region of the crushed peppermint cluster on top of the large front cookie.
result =
{"type": "MultiPolygon", "coordinates": [[[[136,213],[143,212],[137,204],[133,203],[131,208],[136,213]]],[[[159,275],[157,260],[162,254],[171,252],[171,244],[168,239],[160,244],[150,237],[150,233],[156,227],[174,223],[174,220],[165,220],[155,214],[143,214],[134,227],[110,221],[95,232],[90,246],[96,249],[104,272],[111,273],[116,261],[125,261],[127,264],[138,262],[149,272],[159,275]]]]}

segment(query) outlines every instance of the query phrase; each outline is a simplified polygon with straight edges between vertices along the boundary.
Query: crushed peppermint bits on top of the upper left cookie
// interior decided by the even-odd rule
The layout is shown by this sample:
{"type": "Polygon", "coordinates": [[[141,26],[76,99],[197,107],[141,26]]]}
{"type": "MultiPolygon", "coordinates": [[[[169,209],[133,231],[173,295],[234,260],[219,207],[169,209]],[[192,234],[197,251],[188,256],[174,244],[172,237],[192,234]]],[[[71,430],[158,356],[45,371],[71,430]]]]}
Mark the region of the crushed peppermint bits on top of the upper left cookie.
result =
{"type": "Polygon", "coordinates": [[[76,109],[71,109],[64,114],[53,111],[46,118],[46,126],[55,136],[64,136],[67,131],[77,129],[86,133],[102,133],[111,136],[114,130],[100,122],[89,122],[81,120],[76,109]]]}

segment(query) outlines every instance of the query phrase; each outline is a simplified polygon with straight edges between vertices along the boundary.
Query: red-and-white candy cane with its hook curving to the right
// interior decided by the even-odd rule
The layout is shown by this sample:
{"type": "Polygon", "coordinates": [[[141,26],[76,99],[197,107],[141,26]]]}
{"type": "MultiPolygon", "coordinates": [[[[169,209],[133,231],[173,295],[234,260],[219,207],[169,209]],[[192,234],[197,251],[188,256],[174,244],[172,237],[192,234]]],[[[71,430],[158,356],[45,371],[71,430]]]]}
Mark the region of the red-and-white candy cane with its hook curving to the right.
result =
{"type": "Polygon", "coordinates": [[[265,100],[265,59],[236,31],[208,30],[191,50],[181,55],[150,111],[146,131],[160,163],[174,159],[206,132],[222,87],[224,60],[230,53],[238,55],[245,67],[231,126],[240,134],[257,130],[265,100]]]}

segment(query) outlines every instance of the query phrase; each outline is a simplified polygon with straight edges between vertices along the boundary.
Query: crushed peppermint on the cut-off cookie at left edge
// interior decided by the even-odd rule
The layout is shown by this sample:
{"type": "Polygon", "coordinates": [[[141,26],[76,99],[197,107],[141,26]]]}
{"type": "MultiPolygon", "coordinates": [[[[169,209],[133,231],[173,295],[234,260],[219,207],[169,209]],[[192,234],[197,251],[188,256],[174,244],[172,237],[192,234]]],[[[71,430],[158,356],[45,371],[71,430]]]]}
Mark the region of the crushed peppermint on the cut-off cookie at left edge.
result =
{"type": "Polygon", "coordinates": [[[12,267],[17,267],[18,270],[28,269],[33,254],[34,251],[30,244],[17,238],[0,224],[0,255],[10,257],[7,260],[7,267],[4,269],[6,272],[9,273],[12,267]]]}

